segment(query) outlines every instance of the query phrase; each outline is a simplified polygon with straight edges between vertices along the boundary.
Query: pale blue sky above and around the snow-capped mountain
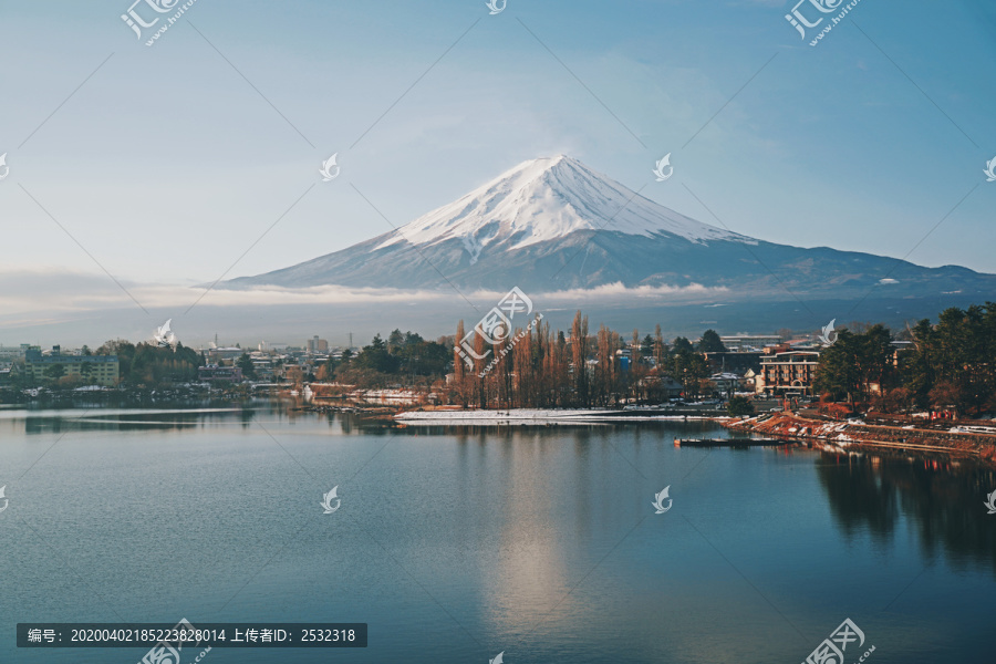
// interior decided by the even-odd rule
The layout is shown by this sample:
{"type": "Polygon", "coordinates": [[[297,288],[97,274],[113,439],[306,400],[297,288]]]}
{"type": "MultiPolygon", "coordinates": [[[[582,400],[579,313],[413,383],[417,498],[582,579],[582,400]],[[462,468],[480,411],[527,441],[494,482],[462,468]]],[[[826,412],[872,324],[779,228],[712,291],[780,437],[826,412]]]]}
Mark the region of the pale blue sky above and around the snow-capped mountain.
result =
{"type": "Polygon", "coordinates": [[[153,48],[128,4],[0,2],[0,270],[212,281],[272,226],[228,276],[258,273],[390,230],[354,186],[401,226],[567,153],[705,222],[689,189],[737,232],[895,257],[971,191],[909,259],[996,272],[988,2],[862,0],[817,48],[780,1],[198,0],[153,48]]]}

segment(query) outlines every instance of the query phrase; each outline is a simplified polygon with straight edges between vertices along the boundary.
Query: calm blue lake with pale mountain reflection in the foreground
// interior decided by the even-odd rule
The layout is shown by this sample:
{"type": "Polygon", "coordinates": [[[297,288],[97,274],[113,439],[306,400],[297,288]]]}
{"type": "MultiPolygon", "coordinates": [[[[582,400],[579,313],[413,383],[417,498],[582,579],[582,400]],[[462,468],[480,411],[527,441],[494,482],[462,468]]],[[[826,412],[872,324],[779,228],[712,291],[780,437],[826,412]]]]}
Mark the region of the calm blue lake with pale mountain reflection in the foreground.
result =
{"type": "Polygon", "coordinates": [[[798,664],[845,619],[849,664],[996,662],[992,469],[674,447],[697,436],[726,432],[0,411],[0,662],[147,650],[17,649],[18,622],[181,618],[370,625],[366,649],[209,664],[798,664]]]}

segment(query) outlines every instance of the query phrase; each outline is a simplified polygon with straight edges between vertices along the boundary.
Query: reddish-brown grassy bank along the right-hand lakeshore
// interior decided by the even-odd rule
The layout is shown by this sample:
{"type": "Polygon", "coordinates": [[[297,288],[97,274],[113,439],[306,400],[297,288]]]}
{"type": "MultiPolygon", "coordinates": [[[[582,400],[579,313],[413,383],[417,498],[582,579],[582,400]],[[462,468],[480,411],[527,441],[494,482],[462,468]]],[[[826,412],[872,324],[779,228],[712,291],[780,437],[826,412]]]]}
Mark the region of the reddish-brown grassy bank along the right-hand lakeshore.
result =
{"type": "Polygon", "coordinates": [[[839,447],[868,446],[967,454],[996,464],[996,437],[989,434],[828,422],[785,413],[769,417],[730,419],[722,424],[733,430],[822,440],[839,447]]]}

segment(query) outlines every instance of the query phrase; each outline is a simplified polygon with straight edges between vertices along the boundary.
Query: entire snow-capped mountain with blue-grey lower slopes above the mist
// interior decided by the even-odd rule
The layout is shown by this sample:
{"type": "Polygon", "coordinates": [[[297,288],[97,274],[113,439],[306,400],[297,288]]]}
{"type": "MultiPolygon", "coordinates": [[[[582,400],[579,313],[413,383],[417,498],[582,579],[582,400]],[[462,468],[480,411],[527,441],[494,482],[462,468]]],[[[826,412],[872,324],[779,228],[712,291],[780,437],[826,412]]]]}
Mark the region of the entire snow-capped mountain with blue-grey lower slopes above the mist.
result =
{"type": "MultiPolygon", "coordinates": [[[[724,300],[984,301],[996,276],[827,247],[768,242],[675,212],[567,156],[519,164],[397,230],[219,288],[259,286],[527,292],[720,289],[724,300]]],[[[639,291],[637,291],[639,292],[639,291]]],[[[706,292],[715,293],[715,290],[706,292]]],[[[706,295],[716,299],[715,294],[706,295]]],[[[931,304],[925,315],[937,310],[931,304]]]]}

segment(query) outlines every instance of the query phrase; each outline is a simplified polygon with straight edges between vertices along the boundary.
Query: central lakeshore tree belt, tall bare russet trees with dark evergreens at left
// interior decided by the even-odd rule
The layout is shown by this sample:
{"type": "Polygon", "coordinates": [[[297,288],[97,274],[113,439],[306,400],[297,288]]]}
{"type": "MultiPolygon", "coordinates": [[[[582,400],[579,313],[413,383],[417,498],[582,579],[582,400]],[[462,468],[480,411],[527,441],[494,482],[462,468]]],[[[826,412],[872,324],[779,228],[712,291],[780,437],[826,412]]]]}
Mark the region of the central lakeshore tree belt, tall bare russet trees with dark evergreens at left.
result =
{"type": "Polygon", "coordinates": [[[697,345],[684,336],[666,343],[660,325],[643,338],[634,330],[626,339],[604,325],[591,334],[588,317],[580,311],[569,335],[547,323],[516,332],[522,335],[515,344],[511,334],[488,347],[475,335],[474,354],[479,359],[468,366],[455,349],[465,335],[463,321],[454,336],[438,341],[394,330],[386,341],[376,334],[355,354],[346,350],[341,357],[330,356],[311,377],[359,387],[432,388],[443,401],[465,407],[609,406],[663,401],[665,378],[677,381],[687,396],[710,393],[702,353],[726,350],[713,330],[697,345]],[[631,352],[623,360],[619,351],[627,347],[631,352]],[[479,376],[495,357],[500,362],[479,376]]]}

